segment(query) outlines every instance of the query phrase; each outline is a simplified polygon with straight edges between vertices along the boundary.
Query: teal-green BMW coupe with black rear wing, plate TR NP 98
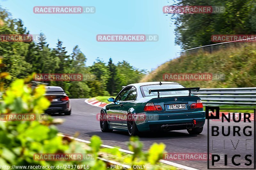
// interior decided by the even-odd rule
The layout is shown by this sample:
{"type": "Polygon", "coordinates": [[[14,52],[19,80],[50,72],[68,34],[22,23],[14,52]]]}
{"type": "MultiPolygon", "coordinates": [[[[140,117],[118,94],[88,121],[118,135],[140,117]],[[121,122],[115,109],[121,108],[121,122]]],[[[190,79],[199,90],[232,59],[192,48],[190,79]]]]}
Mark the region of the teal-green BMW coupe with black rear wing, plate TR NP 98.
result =
{"type": "Polygon", "coordinates": [[[175,82],[127,85],[101,109],[101,131],[122,130],[134,136],[145,131],[187,129],[198,135],[203,131],[205,112],[192,90],[199,91],[199,87],[185,88],[175,82]]]}

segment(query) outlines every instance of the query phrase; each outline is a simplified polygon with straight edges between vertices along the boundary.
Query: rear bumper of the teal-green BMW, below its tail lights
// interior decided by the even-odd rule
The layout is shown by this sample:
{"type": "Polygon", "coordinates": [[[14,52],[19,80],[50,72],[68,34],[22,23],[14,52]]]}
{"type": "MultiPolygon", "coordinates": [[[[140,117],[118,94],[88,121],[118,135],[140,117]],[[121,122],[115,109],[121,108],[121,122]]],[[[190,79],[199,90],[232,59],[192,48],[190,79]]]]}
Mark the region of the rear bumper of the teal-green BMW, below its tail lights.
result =
{"type": "Polygon", "coordinates": [[[146,114],[144,120],[135,119],[135,122],[139,131],[162,130],[163,125],[168,125],[170,130],[183,130],[188,129],[187,125],[193,124],[193,120],[196,120],[195,128],[203,127],[205,112],[146,114]]]}

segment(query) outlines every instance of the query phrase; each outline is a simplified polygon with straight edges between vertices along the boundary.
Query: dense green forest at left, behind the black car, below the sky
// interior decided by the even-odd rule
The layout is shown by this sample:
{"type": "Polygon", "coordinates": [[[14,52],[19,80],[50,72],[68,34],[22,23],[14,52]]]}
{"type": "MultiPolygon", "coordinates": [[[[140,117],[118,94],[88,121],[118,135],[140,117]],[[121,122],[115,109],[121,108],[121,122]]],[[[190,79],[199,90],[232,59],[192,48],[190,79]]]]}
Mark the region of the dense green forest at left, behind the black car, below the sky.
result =
{"type": "MultiPolygon", "coordinates": [[[[29,34],[21,19],[13,19],[10,12],[0,7],[0,34],[29,34]]],[[[9,80],[1,80],[2,89],[17,78],[26,78],[32,73],[80,73],[83,81],[47,81],[49,85],[61,86],[70,98],[115,95],[122,86],[138,82],[145,70],[138,70],[127,61],[106,63],[98,57],[92,66],[86,65],[86,56],[78,45],[68,54],[63,42],[57,40],[50,48],[44,33],[39,41],[0,41],[0,56],[3,63],[0,72],[8,72],[9,80]]]]}

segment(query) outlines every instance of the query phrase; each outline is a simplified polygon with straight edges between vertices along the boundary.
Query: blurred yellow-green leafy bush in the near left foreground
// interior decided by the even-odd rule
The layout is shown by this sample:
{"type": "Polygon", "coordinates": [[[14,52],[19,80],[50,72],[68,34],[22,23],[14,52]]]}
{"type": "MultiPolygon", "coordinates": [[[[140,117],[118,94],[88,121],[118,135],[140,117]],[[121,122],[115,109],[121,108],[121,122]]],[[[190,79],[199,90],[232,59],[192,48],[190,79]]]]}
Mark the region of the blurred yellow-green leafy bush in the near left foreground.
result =
{"type": "MultiPolygon", "coordinates": [[[[18,79],[5,91],[3,102],[0,103],[0,113],[3,114],[36,114],[44,113],[50,102],[44,97],[43,86],[32,90],[27,80],[18,79]]],[[[87,148],[69,137],[58,136],[58,130],[54,124],[56,119],[48,117],[46,120],[35,121],[0,121],[0,165],[3,167],[16,166],[68,166],[68,165],[88,165],[76,166],[73,169],[101,170],[108,169],[107,164],[98,159],[100,137],[93,136],[87,148]],[[82,154],[91,159],[49,161],[35,160],[34,154],[82,154]]],[[[146,169],[162,169],[156,165],[163,157],[165,145],[153,144],[148,152],[142,152],[142,143],[138,138],[131,138],[128,143],[129,149],[134,152],[124,159],[128,165],[145,165],[146,169]]],[[[104,152],[120,157],[118,149],[105,149],[104,152]]],[[[143,167],[143,166],[142,166],[143,167]]],[[[110,167],[109,167],[110,168],[110,167]]],[[[131,166],[131,169],[133,166],[131,166]]],[[[172,168],[172,167],[170,167],[172,168]]],[[[4,169],[4,168],[2,168],[4,169]]],[[[7,170],[7,168],[5,168],[7,170]]],[[[166,169],[166,168],[165,168],[166,169]]]]}

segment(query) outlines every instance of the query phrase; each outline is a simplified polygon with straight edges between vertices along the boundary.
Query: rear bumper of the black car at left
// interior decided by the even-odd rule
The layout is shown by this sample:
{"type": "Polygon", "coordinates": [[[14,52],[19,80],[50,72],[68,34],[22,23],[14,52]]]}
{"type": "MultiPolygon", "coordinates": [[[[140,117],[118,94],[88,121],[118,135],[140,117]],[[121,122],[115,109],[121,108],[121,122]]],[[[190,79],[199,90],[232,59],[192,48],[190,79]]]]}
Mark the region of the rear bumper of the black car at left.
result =
{"type": "Polygon", "coordinates": [[[70,111],[70,101],[63,101],[61,103],[51,103],[51,105],[45,110],[45,113],[64,113],[70,111]]]}

